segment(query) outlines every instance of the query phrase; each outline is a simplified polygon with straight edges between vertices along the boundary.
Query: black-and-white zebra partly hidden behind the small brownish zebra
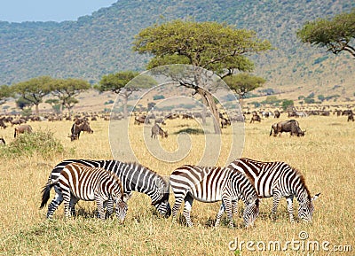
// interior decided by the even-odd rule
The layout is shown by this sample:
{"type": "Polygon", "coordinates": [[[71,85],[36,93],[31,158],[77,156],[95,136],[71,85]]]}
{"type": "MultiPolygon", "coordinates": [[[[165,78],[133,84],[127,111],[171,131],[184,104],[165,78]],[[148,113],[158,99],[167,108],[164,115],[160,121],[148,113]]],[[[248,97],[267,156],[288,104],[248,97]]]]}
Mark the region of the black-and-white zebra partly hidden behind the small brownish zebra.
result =
{"type": "MultiPolygon", "coordinates": [[[[149,170],[137,163],[123,163],[116,160],[89,160],[89,159],[67,159],[60,162],[51,171],[47,184],[54,182],[58,179],[61,170],[70,163],[80,163],[88,167],[101,167],[110,171],[118,176],[122,182],[123,191],[127,198],[130,198],[132,191],[145,193],[152,199],[152,206],[154,206],[159,213],[165,217],[171,214],[169,204],[169,182],[164,181],[161,175],[156,174],[154,171],[149,170]]],[[[56,195],[48,207],[47,218],[59,206],[59,193],[57,186],[54,186],[56,195]]],[[[107,213],[113,212],[113,202],[107,202],[107,213]]],[[[73,206],[75,207],[75,205],[73,206]]]]}

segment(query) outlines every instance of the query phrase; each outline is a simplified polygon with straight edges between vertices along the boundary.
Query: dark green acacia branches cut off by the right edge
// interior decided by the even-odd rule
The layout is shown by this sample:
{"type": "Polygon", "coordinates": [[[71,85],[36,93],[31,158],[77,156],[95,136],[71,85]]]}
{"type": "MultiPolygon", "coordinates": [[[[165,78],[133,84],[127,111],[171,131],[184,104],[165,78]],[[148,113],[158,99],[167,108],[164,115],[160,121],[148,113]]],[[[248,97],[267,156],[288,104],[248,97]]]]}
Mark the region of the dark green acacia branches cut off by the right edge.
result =
{"type": "Polygon", "coordinates": [[[348,51],[355,57],[355,47],[351,45],[355,38],[355,8],[350,13],[340,13],[333,19],[308,21],[296,35],[303,43],[327,47],[328,51],[335,54],[348,51]]]}

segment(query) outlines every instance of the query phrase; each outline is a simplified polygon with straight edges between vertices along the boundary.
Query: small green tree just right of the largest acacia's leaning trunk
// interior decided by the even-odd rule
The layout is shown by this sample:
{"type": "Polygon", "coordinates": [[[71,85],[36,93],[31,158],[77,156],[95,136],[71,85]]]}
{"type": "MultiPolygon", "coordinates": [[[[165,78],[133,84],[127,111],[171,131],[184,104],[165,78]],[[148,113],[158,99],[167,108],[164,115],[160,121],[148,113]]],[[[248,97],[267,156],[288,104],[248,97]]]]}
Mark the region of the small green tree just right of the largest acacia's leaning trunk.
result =
{"type": "Polygon", "coordinates": [[[266,80],[256,75],[240,73],[226,76],[224,81],[241,99],[244,98],[249,91],[263,86],[266,80]]]}

